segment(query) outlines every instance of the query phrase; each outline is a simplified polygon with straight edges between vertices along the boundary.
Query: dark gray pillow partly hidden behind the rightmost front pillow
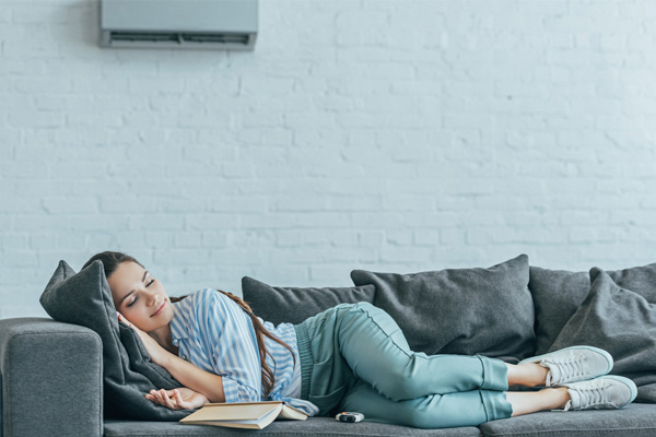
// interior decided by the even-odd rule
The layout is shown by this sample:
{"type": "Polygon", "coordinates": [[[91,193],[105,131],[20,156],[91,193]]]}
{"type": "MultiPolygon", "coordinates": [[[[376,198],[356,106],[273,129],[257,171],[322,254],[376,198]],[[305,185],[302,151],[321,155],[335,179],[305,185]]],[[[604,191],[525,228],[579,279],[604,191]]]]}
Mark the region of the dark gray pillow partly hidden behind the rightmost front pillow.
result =
{"type": "MultiPolygon", "coordinates": [[[[656,263],[607,271],[622,288],[656,303],[656,263]]],[[[570,272],[530,267],[528,288],[536,310],[536,355],[544,354],[576,312],[590,290],[588,272],[570,272]]]]}

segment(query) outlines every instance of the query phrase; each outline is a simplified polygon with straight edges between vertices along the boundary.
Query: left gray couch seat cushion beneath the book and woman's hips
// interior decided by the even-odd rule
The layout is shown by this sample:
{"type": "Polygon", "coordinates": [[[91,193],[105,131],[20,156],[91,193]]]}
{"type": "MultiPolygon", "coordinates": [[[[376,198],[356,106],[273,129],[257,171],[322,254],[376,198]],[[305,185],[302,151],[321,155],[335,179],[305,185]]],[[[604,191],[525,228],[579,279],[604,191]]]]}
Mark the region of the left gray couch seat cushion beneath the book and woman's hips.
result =
{"type": "Polygon", "coordinates": [[[136,421],[105,421],[105,437],[128,436],[258,436],[258,437],[380,437],[380,436],[418,436],[418,437],[473,437],[481,433],[477,427],[448,428],[448,429],[417,429],[405,426],[360,422],[347,424],[337,422],[333,417],[311,417],[307,421],[280,421],[273,422],[265,429],[245,430],[222,428],[220,426],[183,425],[166,422],[136,422],[136,421]]]}

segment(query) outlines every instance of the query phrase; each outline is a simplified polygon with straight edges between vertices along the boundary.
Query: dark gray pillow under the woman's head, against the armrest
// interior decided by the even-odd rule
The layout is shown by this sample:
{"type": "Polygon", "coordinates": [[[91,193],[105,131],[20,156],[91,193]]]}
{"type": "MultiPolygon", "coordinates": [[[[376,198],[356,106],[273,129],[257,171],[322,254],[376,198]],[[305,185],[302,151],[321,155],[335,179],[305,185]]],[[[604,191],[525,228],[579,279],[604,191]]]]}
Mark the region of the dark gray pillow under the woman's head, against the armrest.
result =
{"type": "Polygon", "coordinates": [[[131,328],[118,323],[102,261],[80,273],[59,261],[40,304],[52,319],[81,324],[101,336],[105,418],[179,421],[191,412],[155,405],[143,397],[152,389],[181,385],[150,361],[131,328]]]}

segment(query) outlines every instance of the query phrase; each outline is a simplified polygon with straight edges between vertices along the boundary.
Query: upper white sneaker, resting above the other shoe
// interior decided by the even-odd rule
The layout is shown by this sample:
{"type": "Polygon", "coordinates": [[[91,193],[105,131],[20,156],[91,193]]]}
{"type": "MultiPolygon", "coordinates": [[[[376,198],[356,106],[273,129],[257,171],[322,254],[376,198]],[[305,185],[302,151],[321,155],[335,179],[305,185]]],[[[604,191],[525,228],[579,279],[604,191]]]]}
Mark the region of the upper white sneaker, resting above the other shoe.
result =
{"type": "Polygon", "coordinates": [[[593,346],[565,347],[519,362],[525,363],[538,363],[549,369],[546,387],[585,381],[604,376],[612,369],[612,356],[593,346]]]}

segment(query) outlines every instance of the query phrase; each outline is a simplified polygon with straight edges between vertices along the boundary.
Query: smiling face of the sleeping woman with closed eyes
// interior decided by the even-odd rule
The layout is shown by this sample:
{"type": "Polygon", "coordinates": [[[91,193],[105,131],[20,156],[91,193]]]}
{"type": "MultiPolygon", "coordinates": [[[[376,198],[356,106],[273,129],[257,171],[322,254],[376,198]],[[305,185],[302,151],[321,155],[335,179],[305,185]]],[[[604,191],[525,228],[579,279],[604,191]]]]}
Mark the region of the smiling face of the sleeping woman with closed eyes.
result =
{"type": "Polygon", "coordinates": [[[116,310],[140,330],[151,332],[173,319],[173,307],[164,285],[138,263],[121,262],[107,283],[116,310]]]}

